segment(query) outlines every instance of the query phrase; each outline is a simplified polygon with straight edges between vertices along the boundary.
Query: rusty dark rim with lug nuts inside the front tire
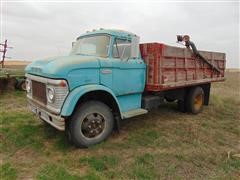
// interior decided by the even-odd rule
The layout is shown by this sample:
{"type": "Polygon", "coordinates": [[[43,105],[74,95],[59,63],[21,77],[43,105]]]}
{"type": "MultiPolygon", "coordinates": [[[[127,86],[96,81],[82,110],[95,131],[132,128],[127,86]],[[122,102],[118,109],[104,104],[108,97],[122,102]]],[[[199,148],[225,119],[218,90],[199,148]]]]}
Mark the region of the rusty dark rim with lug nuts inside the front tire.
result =
{"type": "Polygon", "coordinates": [[[103,133],[104,128],[104,117],[99,113],[91,113],[83,119],[81,132],[87,138],[95,138],[103,133]]]}

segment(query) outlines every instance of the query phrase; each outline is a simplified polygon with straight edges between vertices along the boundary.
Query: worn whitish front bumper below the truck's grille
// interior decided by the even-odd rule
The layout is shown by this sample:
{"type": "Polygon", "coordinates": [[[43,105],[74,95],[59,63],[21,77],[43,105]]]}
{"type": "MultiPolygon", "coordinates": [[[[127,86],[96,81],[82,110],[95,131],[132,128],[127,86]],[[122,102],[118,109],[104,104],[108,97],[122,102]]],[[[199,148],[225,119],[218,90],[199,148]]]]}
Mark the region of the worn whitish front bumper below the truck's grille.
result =
{"type": "Polygon", "coordinates": [[[54,115],[50,112],[47,112],[46,110],[44,110],[40,106],[37,106],[30,100],[28,100],[28,103],[29,103],[30,110],[34,114],[36,114],[40,119],[44,120],[45,122],[47,122],[48,124],[52,125],[53,127],[55,127],[56,129],[58,129],[60,131],[65,130],[65,119],[64,118],[62,118],[59,115],[54,115]]]}

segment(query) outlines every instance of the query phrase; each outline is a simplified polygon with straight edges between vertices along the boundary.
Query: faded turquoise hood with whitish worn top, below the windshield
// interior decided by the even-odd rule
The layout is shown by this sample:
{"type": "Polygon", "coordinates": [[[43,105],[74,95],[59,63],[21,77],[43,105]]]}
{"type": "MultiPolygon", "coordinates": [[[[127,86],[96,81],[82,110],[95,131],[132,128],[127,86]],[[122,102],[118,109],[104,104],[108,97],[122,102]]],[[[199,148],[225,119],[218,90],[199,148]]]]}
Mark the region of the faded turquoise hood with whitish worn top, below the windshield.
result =
{"type": "Polygon", "coordinates": [[[99,60],[95,56],[71,55],[33,61],[25,68],[25,72],[49,78],[66,78],[70,71],[99,67],[99,60]]]}

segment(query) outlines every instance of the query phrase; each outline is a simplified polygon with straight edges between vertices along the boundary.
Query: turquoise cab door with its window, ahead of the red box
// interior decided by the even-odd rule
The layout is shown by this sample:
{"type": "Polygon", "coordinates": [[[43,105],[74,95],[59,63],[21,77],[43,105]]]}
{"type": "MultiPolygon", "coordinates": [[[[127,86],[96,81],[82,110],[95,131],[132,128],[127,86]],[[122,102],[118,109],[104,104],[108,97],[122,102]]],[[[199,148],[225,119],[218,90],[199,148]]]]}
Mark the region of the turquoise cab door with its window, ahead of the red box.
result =
{"type": "Polygon", "coordinates": [[[131,57],[131,41],[115,38],[112,49],[112,89],[117,96],[141,93],[145,87],[145,64],[131,57]]]}

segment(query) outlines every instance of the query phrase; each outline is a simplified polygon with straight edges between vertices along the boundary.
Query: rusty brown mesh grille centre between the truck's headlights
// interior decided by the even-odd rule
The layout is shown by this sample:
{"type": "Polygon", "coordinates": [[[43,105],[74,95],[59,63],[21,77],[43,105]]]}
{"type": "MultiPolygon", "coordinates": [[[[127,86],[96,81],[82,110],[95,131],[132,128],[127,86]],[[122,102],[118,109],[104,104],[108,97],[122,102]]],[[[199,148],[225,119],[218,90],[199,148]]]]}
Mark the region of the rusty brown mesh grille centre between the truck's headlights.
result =
{"type": "Polygon", "coordinates": [[[32,81],[32,97],[33,99],[47,104],[47,96],[46,96],[46,85],[41,82],[32,81]]]}

